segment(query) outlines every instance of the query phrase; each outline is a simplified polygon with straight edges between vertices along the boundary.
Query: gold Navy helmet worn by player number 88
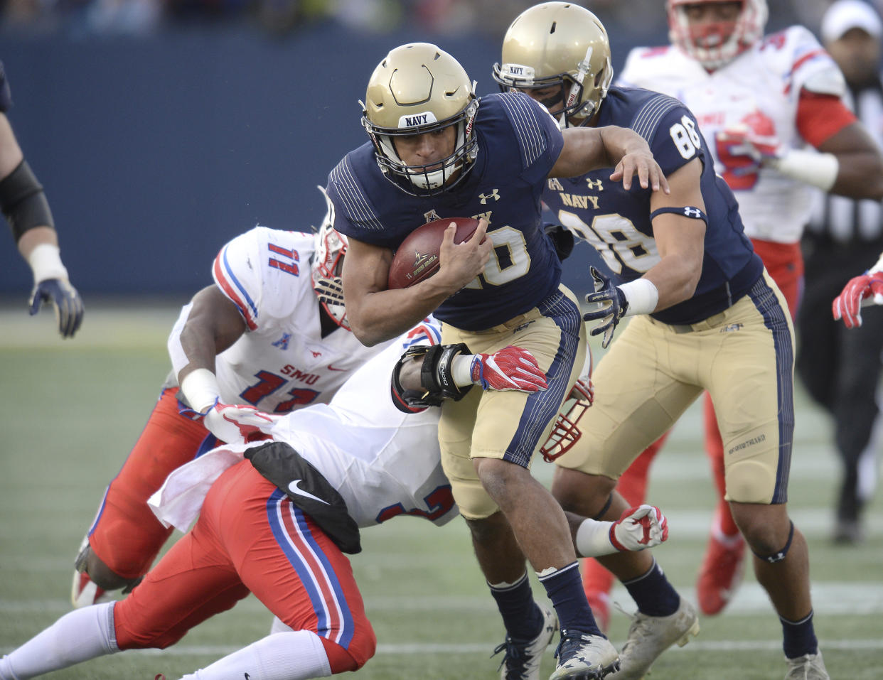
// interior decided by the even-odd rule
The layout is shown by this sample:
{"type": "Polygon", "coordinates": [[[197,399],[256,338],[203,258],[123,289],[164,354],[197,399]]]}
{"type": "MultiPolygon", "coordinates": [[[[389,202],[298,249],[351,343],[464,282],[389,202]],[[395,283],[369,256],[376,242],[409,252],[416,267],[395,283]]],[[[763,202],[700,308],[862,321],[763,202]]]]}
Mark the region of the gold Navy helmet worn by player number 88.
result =
{"type": "Polygon", "coordinates": [[[573,3],[535,4],[509,25],[502,65],[494,80],[504,91],[560,86],[554,101],[542,101],[562,128],[568,118],[592,117],[613,80],[607,31],[591,11],[573,3]]]}

